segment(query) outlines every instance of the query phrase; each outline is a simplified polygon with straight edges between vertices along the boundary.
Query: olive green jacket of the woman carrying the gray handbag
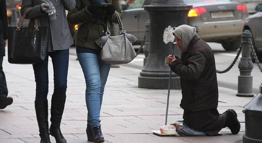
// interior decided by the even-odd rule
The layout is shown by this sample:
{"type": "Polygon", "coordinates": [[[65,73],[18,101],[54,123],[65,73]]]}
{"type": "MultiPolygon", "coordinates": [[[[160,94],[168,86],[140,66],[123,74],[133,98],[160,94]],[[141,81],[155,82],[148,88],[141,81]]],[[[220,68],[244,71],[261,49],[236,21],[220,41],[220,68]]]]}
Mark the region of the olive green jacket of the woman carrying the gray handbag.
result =
{"type": "MultiPolygon", "coordinates": [[[[119,0],[107,0],[115,6],[116,11],[122,19],[122,11],[119,0]]],[[[100,47],[95,41],[106,34],[106,23],[104,20],[95,19],[87,10],[88,5],[92,5],[91,0],[76,0],[74,10],[70,10],[67,15],[67,20],[70,24],[81,24],[77,31],[75,45],[83,48],[100,50],[100,47]]],[[[110,19],[111,36],[115,35],[112,21],[117,23],[116,14],[113,14],[110,19]]]]}

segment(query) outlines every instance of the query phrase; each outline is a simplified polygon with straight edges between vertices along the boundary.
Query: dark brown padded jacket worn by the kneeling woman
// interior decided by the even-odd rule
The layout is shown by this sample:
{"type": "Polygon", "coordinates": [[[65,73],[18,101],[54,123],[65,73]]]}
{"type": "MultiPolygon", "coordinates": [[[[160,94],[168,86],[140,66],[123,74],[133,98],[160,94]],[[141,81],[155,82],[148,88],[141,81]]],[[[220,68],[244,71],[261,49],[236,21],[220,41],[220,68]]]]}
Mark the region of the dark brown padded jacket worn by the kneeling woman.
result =
{"type": "Polygon", "coordinates": [[[212,49],[198,35],[190,41],[181,59],[171,65],[180,76],[182,100],[185,111],[200,111],[217,108],[218,87],[215,59],[212,49]]]}

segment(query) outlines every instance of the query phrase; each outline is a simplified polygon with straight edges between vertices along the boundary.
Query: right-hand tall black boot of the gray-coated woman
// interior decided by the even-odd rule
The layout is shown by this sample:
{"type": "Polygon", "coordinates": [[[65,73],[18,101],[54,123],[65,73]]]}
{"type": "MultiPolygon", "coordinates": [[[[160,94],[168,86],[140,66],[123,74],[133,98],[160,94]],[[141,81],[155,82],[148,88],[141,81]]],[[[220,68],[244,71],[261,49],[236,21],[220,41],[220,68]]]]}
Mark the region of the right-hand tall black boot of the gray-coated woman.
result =
{"type": "Polygon", "coordinates": [[[60,130],[60,123],[62,115],[64,112],[65,99],[54,100],[51,102],[51,125],[50,125],[50,135],[56,139],[57,143],[66,143],[64,136],[60,130]]]}

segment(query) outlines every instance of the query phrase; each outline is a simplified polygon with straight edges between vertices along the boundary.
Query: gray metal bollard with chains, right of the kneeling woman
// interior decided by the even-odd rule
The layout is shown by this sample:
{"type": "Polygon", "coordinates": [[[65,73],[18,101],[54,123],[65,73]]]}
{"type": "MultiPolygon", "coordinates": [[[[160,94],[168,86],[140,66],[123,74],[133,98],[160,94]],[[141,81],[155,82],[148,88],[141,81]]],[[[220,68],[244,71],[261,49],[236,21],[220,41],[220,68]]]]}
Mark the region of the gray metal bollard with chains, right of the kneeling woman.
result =
{"type": "Polygon", "coordinates": [[[250,45],[248,39],[252,38],[252,33],[249,30],[245,30],[242,33],[242,58],[238,64],[240,75],[238,76],[238,93],[237,96],[253,97],[253,77],[251,72],[253,69],[253,63],[250,58],[250,45]]]}

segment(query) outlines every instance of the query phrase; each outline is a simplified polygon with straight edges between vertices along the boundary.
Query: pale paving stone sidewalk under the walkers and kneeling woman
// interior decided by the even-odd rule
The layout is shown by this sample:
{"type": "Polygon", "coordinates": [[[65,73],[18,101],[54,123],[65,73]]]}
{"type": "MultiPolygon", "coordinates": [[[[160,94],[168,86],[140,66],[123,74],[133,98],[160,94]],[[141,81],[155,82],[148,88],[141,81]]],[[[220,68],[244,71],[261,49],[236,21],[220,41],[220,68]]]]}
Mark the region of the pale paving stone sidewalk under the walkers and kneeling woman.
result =
{"type": "MultiPolygon", "coordinates": [[[[68,143],[86,143],[85,80],[75,55],[70,55],[67,101],[61,130],[68,143]]],[[[0,110],[0,143],[37,143],[39,131],[34,110],[35,81],[32,65],[9,64],[4,57],[9,96],[14,103],[0,110]]],[[[51,105],[53,71],[49,59],[49,94],[51,105]]],[[[165,124],[167,90],[138,88],[140,70],[120,66],[111,68],[101,109],[102,132],[106,142],[112,143],[241,143],[244,134],[243,106],[252,98],[237,97],[236,90],[219,87],[220,113],[234,109],[241,122],[241,131],[232,135],[222,129],[214,137],[159,137],[152,134],[165,124]]],[[[179,107],[181,90],[171,90],[168,124],[182,119],[179,107]]],[[[50,109],[50,107],[49,107],[50,109]]],[[[50,110],[49,110],[50,113],[50,110]]],[[[49,114],[50,115],[50,114],[49,114]]],[[[50,117],[49,117],[50,118],[50,117]]],[[[51,141],[55,140],[51,137],[51,141]]]]}

